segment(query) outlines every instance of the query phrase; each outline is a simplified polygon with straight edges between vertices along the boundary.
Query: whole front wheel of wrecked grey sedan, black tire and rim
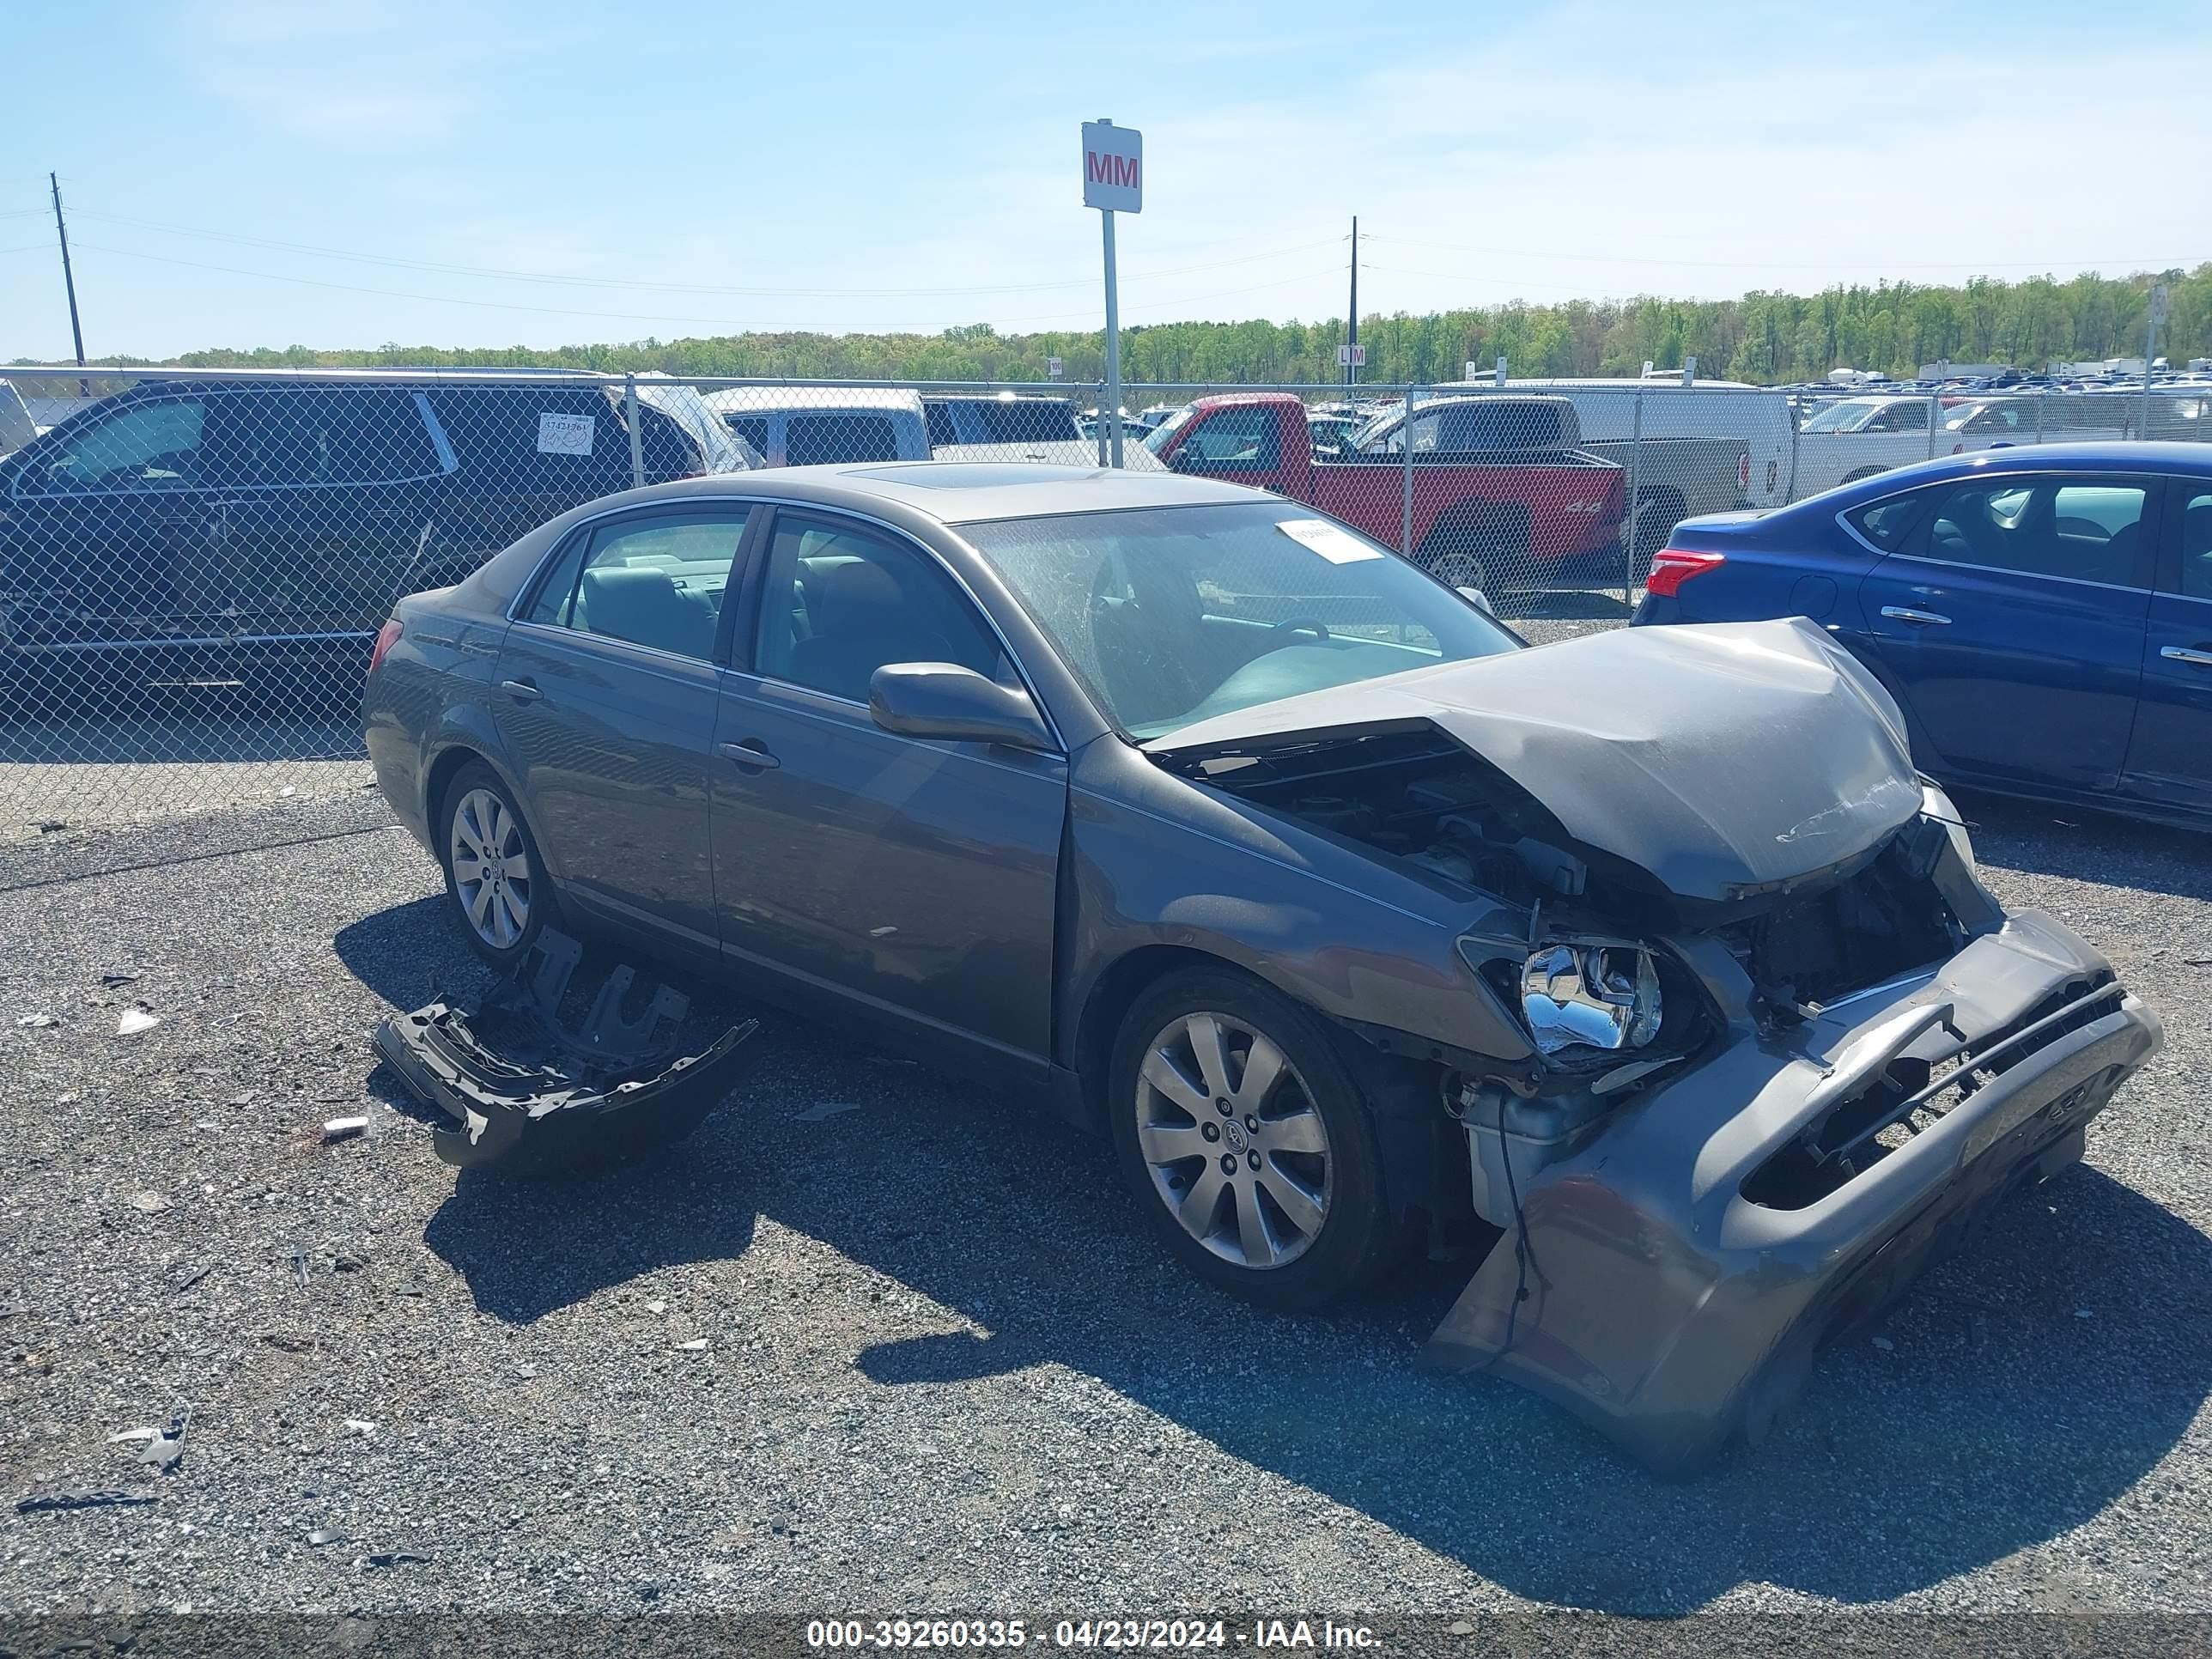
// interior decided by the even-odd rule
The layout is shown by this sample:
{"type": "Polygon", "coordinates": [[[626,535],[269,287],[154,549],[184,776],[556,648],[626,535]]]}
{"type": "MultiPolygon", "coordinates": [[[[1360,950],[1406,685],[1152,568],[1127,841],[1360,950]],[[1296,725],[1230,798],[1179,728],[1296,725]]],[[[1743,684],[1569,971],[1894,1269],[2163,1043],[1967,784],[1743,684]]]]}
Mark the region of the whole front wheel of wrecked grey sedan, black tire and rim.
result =
{"type": "Polygon", "coordinates": [[[1206,1283],[1305,1314],[1396,1254],[1374,1115],[1329,1031],[1290,998],[1230,969],[1166,975],[1121,1018],[1106,1102],[1130,1192],[1206,1283]],[[1206,1029],[1221,1037],[1219,1071],[1199,1057],[1206,1029]],[[1274,1051],[1272,1084],[1243,1099],[1261,1042],[1274,1051]],[[1232,1084],[1228,1095],[1208,1093],[1210,1073],[1232,1084]]]}

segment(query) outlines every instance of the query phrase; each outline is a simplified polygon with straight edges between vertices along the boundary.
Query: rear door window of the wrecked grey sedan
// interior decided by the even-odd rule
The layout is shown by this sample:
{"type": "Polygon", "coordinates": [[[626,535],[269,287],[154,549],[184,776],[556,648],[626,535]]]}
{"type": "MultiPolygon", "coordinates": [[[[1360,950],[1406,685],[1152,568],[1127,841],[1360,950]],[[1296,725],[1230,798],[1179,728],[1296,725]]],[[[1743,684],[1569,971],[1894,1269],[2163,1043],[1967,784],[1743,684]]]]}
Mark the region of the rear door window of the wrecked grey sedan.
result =
{"type": "Polygon", "coordinates": [[[602,524],[555,564],[526,619],[712,661],[743,533],[743,513],[602,524]]]}

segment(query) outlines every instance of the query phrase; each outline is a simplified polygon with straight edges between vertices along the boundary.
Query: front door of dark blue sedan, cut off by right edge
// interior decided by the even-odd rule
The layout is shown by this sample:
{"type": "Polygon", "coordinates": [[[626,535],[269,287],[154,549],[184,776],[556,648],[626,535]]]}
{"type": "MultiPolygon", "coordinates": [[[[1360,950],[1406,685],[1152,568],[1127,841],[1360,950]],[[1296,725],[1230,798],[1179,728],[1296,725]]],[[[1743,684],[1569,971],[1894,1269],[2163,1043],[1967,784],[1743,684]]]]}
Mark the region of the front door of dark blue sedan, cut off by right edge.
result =
{"type": "Polygon", "coordinates": [[[2143,635],[2124,792],[2212,812],[2212,482],[2168,480],[2166,546],[2143,635]]]}

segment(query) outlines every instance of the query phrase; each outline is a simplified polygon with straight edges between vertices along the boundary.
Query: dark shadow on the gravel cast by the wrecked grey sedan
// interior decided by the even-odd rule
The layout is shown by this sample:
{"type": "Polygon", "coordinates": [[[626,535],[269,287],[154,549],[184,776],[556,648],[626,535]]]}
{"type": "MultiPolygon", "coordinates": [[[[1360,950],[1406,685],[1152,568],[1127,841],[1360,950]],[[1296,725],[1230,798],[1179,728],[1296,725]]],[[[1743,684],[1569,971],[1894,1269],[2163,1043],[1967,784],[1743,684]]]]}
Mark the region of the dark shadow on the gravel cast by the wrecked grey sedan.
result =
{"type": "MultiPolygon", "coordinates": [[[[436,905],[358,927],[361,967],[411,1000],[436,905]]],[[[1767,1444],[1661,1482],[1506,1383],[1418,1367],[1473,1263],[1276,1318],[1183,1274],[1104,1150],[1046,1115],[787,1015],[763,1042],[681,1146],[562,1183],[462,1177],[427,1243],[480,1310],[529,1323],[666,1263],[734,1259],[768,1217],[945,1310],[958,1329],[849,1363],[940,1394],[947,1420],[989,1416],[991,1378],[1068,1367],[1517,1595],[1632,1615],[1743,1584],[1885,1601],[1993,1564],[2026,1606],[2066,1606],[2062,1573],[2011,1557],[2143,1482],[2212,1396],[2212,1239],[2084,1166],[2002,1208],[1880,1345],[1823,1352],[1767,1444]]]]}

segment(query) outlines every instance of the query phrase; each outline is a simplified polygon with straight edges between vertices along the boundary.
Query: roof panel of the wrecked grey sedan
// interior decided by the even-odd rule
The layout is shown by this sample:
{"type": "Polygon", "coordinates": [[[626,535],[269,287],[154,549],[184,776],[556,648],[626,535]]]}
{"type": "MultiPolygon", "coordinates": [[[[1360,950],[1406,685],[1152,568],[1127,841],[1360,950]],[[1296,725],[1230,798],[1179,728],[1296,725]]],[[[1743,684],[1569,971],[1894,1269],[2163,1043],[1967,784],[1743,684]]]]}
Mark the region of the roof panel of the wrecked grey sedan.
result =
{"type": "MultiPolygon", "coordinates": [[[[989,460],[869,460],[834,467],[770,467],[763,471],[684,478],[633,489],[622,500],[699,500],[745,495],[845,507],[852,511],[902,509],[940,524],[978,524],[1046,513],[1106,513],[1137,507],[1208,507],[1279,500],[1259,489],[1179,473],[1135,473],[1051,462],[989,460]]],[[[602,502],[604,507],[604,502],[602,502]]]]}

